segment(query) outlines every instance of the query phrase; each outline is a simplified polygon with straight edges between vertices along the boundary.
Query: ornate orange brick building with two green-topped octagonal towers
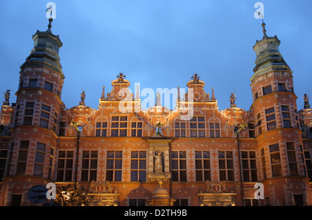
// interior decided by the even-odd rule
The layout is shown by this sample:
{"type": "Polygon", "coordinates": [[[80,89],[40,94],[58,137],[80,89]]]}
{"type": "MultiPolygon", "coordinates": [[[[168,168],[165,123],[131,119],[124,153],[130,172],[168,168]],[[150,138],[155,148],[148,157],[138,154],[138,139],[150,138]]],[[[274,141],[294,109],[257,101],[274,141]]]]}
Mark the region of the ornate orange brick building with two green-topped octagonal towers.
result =
{"type": "MultiPolygon", "coordinates": [[[[34,185],[77,183],[92,205],[310,205],[311,108],[298,110],[293,72],[279,40],[257,41],[253,103],[219,110],[214,90],[194,74],[175,109],[141,108],[139,90],[119,74],[98,108],[66,108],[61,99],[62,42],[37,31],[21,65],[16,103],[1,106],[0,205],[36,205],[34,185]],[[124,108],[121,108],[124,107],[124,108]],[[190,117],[191,116],[191,117],[190,117]],[[77,129],[78,128],[78,129],[77,129]],[[263,199],[255,199],[256,183],[263,199]]],[[[99,95],[100,96],[100,95],[99,95]]],[[[49,201],[46,201],[49,202],[49,201]]],[[[42,205],[40,203],[39,205],[42,205]]]]}

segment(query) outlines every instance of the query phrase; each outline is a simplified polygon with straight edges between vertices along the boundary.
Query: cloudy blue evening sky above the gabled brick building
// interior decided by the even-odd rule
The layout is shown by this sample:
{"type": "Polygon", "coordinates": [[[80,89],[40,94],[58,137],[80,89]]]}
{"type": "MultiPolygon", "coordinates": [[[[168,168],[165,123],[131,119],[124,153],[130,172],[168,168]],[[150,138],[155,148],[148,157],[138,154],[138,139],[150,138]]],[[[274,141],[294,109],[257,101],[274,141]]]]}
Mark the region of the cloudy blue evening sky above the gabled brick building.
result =
{"type": "MultiPolygon", "coordinates": [[[[33,48],[32,36],[46,31],[49,1],[1,1],[1,94],[12,90],[16,101],[19,67],[33,48]]],[[[186,88],[194,73],[214,87],[220,110],[236,94],[238,107],[252,104],[250,78],[261,40],[261,20],[254,18],[252,0],[54,0],[52,33],[60,35],[65,83],[62,101],[78,105],[85,90],[86,105],[98,108],[116,74],[123,72],[135,92],[145,87],[186,88]]],[[[311,89],[312,1],[261,1],[268,36],[281,40],[281,55],[293,70],[297,107],[311,89]]],[[[141,97],[144,99],[144,97],[141,97]]],[[[0,96],[0,103],[4,96],[0,96]]],[[[312,100],[311,100],[312,101],[312,100]]],[[[171,106],[172,108],[172,106],[171,106]]]]}

